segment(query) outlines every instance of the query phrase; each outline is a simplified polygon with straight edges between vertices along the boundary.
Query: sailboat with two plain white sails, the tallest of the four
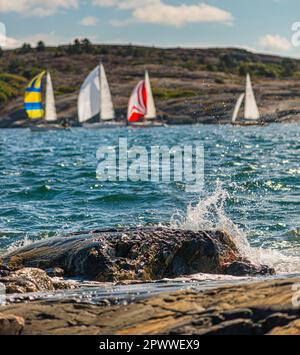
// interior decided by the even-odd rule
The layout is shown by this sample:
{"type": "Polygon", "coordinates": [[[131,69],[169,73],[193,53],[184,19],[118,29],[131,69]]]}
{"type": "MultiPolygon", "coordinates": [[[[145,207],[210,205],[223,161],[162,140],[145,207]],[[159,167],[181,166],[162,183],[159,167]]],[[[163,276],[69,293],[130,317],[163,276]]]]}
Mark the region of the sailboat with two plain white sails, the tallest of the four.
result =
{"type": "Polygon", "coordinates": [[[78,97],[78,120],[86,128],[120,125],[114,121],[115,112],[104,66],[100,63],[87,76],[78,97]],[[97,123],[87,122],[97,117],[97,123]]]}

